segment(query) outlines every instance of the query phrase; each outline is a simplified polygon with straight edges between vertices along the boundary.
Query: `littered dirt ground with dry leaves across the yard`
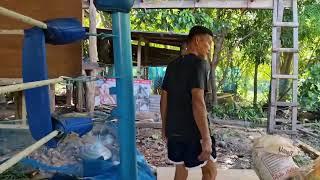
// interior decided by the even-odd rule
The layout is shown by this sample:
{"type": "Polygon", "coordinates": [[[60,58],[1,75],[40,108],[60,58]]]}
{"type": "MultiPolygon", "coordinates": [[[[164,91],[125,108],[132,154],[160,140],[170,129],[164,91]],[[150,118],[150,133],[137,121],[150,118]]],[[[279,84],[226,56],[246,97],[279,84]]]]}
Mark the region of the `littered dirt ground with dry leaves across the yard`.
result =
{"type": "MultiPolygon", "coordinates": [[[[14,108],[0,109],[0,119],[14,118],[14,108]]],[[[70,109],[57,108],[59,111],[69,112],[70,109]]],[[[154,118],[152,118],[154,119],[154,118]]],[[[157,121],[154,121],[157,122],[157,121]]],[[[220,169],[253,169],[252,143],[255,138],[266,134],[266,128],[244,128],[214,124],[216,139],[217,162],[220,169]]],[[[287,136],[288,137],[288,136],[287,136]]],[[[320,139],[299,133],[296,137],[300,141],[309,144],[318,151],[320,150],[320,139]]],[[[8,143],[2,141],[0,142],[8,143]]],[[[137,128],[136,142],[138,150],[145,156],[147,162],[153,167],[173,166],[167,158],[167,148],[161,139],[161,130],[154,128],[137,128]]],[[[6,149],[6,148],[4,148],[6,149]]],[[[10,149],[9,147],[7,149],[10,149]]],[[[0,148],[1,150],[1,148],[0,148]]],[[[1,155],[6,152],[0,151],[1,155]]],[[[298,157],[297,161],[303,166],[312,160],[308,155],[298,157]]]]}

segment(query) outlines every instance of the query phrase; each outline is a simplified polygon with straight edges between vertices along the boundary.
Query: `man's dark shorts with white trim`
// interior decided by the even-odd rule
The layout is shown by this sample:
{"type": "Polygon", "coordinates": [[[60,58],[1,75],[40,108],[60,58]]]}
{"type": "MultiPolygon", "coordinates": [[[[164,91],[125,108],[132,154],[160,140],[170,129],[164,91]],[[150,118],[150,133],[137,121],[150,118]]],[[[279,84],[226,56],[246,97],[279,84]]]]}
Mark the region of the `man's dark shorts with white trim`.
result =
{"type": "MultiPolygon", "coordinates": [[[[212,153],[210,159],[216,161],[216,142],[214,137],[212,140],[212,153]]],[[[168,139],[168,158],[174,164],[184,164],[187,168],[202,167],[206,164],[204,161],[199,161],[198,156],[202,152],[200,140],[176,140],[168,139]]]]}

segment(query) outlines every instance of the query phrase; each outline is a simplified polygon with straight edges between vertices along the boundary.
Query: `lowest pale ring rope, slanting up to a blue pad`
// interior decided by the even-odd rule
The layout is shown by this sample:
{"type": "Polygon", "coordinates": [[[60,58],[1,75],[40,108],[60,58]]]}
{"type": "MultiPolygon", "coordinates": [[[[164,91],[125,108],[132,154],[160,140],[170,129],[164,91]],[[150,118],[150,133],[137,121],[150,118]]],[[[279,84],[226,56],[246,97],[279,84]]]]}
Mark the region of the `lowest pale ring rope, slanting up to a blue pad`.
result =
{"type": "Polygon", "coordinates": [[[3,173],[4,171],[6,171],[7,169],[9,169],[10,167],[12,167],[13,165],[15,165],[21,159],[23,159],[26,156],[28,156],[29,154],[31,154],[33,151],[37,150],[39,147],[41,147],[42,145],[44,145],[45,143],[50,141],[52,138],[56,137],[58,134],[59,134],[59,131],[57,131],[57,130],[52,131],[50,134],[46,135],[45,137],[43,137],[42,139],[40,139],[39,141],[37,141],[33,145],[27,147],[26,149],[19,152],[18,154],[16,154],[15,156],[13,156],[9,160],[7,160],[6,162],[2,163],[0,165],[0,174],[3,173]]]}

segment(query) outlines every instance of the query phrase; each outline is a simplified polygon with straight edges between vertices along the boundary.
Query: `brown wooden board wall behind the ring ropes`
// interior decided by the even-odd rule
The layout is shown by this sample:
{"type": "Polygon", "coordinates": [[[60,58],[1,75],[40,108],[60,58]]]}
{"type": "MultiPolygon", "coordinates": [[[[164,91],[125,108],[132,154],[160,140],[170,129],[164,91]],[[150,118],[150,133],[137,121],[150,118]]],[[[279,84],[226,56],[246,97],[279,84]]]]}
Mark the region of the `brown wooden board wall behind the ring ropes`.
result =
{"type": "MultiPolygon", "coordinates": [[[[75,17],[81,21],[81,1],[79,0],[2,0],[0,6],[14,10],[34,19],[45,21],[54,18],[75,17]]],[[[27,29],[31,26],[11,18],[0,16],[0,29],[27,29]]],[[[21,35],[0,35],[0,77],[21,78],[22,45],[21,35]]],[[[49,78],[61,75],[75,77],[81,74],[81,43],[68,45],[47,45],[49,78]]]]}

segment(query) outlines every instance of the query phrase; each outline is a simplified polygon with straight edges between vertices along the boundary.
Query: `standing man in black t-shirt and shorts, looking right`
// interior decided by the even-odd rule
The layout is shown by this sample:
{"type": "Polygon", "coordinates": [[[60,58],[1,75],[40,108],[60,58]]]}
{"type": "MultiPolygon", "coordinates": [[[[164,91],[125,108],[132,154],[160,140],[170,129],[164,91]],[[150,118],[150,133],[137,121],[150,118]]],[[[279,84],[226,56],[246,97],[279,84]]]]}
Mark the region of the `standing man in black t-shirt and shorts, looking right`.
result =
{"type": "Polygon", "coordinates": [[[202,168],[203,180],[215,180],[215,140],[210,132],[204,95],[209,63],[205,60],[213,33],[194,26],[188,35],[186,55],[166,70],[160,101],[162,137],[168,158],[176,165],[175,180],[186,180],[188,169],[202,168]]]}

